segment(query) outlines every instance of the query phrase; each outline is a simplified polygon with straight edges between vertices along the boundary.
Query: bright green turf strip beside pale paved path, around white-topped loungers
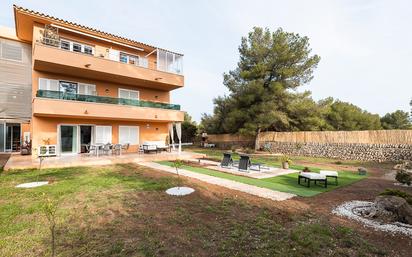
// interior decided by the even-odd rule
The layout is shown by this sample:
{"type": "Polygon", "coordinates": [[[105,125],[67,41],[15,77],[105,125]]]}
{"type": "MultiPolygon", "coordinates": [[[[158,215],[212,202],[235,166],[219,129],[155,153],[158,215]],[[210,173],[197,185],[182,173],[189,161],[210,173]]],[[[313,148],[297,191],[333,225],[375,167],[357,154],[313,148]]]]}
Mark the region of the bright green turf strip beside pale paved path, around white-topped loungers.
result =
{"type": "MultiPolygon", "coordinates": [[[[173,164],[173,162],[169,162],[169,161],[160,161],[158,163],[167,165],[167,166],[172,166],[173,164]]],[[[292,194],[296,194],[299,196],[306,196],[306,197],[314,196],[322,192],[331,191],[338,187],[347,186],[349,184],[352,184],[356,181],[359,181],[365,178],[365,176],[360,176],[360,175],[357,175],[351,172],[341,171],[339,172],[339,185],[338,186],[329,184],[327,188],[324,188],[323,186],[311,185],[311,187],[308,188],[303,185],[299,185],[297,183],[297,173],[281,175],[281,176],[277,176],[273,178],[255,179],[255,178],[220,172],[220,171],[216,171],[212,169],[193,167],[193,166],[188,166],[188,165],[184,165],[182,166],[182,168],[185,170],[189,170],[189,171],[193,171],[196,173],[201,173],[201,174],[205,174],[205,175],[209,175],[213,177],[229,179],[229,180],[237,181],[237,182],[248,184],[248,185],[253,185],[257,187],[267,188],[267,189],[286,192],[286,193],[292,193],[292,194]]]]}

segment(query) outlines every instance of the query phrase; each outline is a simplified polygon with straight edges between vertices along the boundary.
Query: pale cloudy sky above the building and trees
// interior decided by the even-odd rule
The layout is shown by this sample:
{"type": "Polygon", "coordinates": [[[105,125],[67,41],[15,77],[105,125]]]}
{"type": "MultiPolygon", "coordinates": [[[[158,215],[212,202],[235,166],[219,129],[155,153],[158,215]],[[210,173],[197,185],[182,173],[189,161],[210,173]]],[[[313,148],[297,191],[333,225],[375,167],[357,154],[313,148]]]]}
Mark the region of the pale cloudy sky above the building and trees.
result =
{"type": "Polygon", "coordinates": [[[236,68],[241,38],[255,26],[309,37],[321,61],[300,90],[315,100],[380,115],[410,110],[412,1],[2,0],[0,25],[14,27],[13,4],[183,53],[185,87],[171,99],[196,121],[228,93],[223,73],[236,68]]]}

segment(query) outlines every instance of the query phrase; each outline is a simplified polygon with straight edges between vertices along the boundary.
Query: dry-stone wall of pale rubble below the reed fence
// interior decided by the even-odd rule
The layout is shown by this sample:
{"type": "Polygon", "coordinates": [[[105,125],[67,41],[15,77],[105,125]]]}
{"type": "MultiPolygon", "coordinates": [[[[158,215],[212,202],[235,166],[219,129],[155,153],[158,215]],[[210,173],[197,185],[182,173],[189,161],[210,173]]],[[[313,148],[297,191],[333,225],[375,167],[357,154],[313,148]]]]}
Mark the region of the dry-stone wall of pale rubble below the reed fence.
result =
{"type": "Polygon", "coordinates": [[[262,142],[264,150],[273,153],[326,157],[360,161],[412,160],[410,144],[346,144],[346,143],[291,143],[262,142]]]}

